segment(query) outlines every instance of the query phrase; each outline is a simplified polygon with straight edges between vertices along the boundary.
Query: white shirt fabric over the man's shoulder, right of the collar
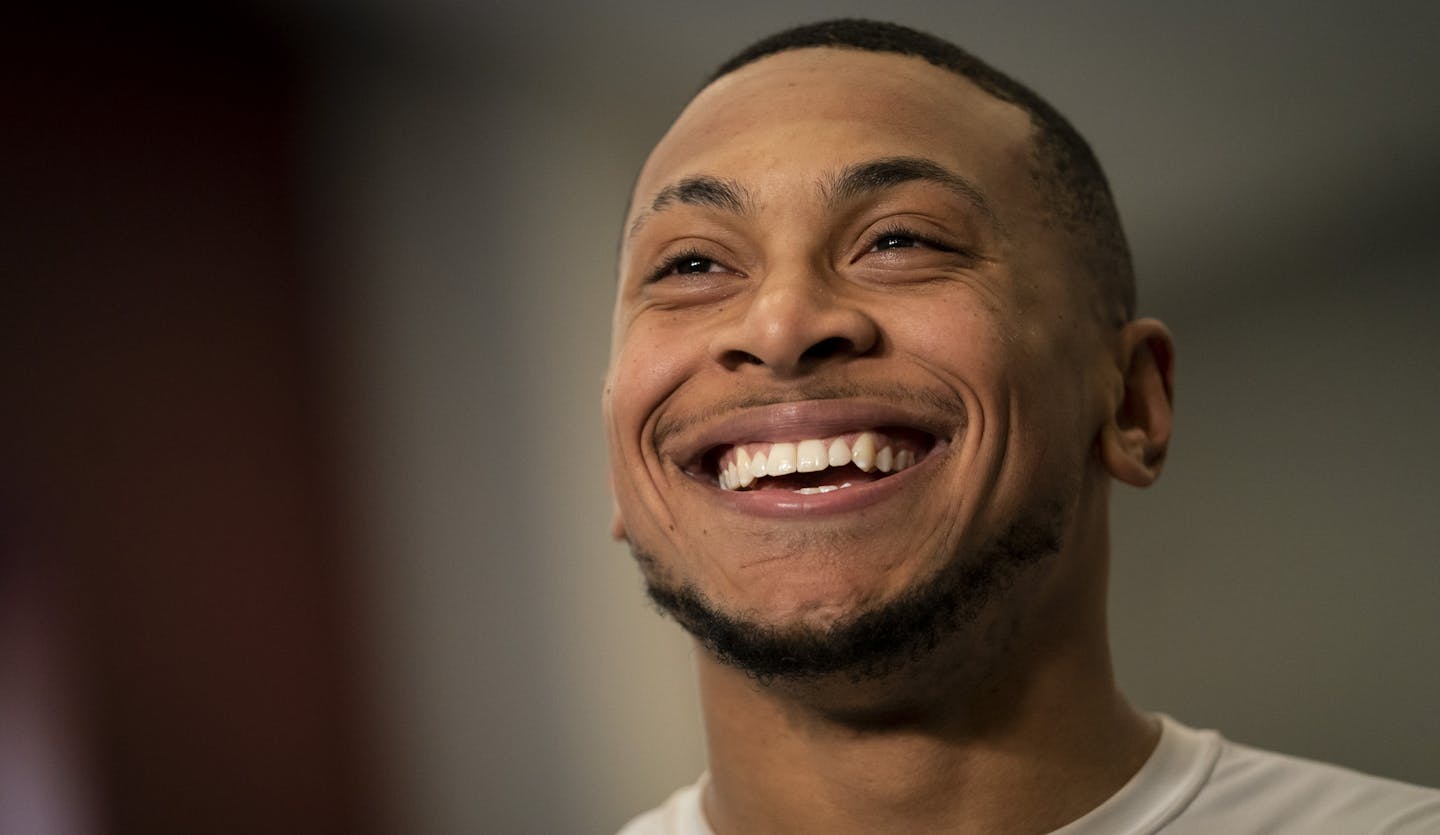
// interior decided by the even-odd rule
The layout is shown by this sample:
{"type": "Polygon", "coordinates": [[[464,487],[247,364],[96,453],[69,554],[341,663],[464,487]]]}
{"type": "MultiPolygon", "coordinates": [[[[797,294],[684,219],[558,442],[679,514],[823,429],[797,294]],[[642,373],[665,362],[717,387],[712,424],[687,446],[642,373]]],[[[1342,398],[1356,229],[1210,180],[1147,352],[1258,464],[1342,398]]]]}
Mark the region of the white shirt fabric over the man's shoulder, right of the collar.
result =
{"type": "Polygon", "coordinates": [[[1440,790],[1227,740],[1181,822],[1208,832],[1433,834],[1440,790]]]}

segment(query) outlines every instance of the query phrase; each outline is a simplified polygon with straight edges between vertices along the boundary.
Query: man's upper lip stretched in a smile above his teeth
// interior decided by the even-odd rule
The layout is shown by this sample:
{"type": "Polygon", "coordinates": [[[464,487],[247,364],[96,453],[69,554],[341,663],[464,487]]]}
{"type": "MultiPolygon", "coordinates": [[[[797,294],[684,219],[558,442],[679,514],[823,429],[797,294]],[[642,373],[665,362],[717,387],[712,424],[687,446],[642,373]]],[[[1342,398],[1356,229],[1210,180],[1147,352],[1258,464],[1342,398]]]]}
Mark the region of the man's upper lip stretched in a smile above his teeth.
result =
{"type": "Polygon", "coordinates": [[[707,420],[674,439],[670,456],[687,472],[703,469],[719,446],[762,441],[804,441],[878,428],[924,432],[950,439],[965,423],[965,412],[916,410],[906,405],[867,399],[796,400],[737,409],[707,420]]]}

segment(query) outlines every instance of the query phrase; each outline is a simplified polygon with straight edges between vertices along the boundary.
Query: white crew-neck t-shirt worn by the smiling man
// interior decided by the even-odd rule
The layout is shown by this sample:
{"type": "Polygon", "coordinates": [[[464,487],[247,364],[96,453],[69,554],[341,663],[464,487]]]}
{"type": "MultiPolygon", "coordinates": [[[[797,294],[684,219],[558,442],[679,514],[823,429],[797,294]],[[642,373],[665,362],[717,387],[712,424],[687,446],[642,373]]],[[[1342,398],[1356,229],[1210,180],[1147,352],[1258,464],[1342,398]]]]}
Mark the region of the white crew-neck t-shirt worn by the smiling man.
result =
{"type": "MultiPolygon", "coordinates": [[[[1161,741],[1109,800],[1051,835],[1437,835],[1440,790],[1238,746],[1162,716],[1161,741]]],[[[714,835],[707,776],[619,835],[714,835]]]]}

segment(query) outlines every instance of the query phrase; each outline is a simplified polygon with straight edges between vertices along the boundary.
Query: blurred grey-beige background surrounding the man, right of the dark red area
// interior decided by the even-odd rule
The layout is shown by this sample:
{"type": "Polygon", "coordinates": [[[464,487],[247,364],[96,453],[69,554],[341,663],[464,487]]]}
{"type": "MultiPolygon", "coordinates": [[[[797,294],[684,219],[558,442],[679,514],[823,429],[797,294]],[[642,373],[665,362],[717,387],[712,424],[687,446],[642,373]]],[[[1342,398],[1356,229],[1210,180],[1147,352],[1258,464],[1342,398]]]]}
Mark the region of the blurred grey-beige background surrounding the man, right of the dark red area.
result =
{"type": "Polygon", "coordinates": [[[302,330],[370,829],[605,834],[704,767],[693,651],[608,537],[615,245],[700,79],[835,16],[973,50],[1110,173],[1179,347],[1165,477],[1116,488],[1126,691],[1440,785],[1440,6],[243,9],[305,62],[302,330]]]}

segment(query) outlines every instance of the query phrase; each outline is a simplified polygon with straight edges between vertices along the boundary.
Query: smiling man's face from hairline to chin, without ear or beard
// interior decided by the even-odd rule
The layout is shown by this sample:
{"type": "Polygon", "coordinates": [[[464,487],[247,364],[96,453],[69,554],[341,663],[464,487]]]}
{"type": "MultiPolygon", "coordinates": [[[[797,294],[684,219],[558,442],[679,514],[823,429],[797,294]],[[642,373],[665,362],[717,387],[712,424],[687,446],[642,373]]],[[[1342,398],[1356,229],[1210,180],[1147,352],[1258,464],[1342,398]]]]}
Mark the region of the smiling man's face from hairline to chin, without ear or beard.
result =
{"type": "Polygon", "coordinates": [[[1073,510],[1113,363],[1030,137],[953,73],[852,50],[691,102],[635,187],[603,399],[651,583],[824,631],[1073,510]]]}

